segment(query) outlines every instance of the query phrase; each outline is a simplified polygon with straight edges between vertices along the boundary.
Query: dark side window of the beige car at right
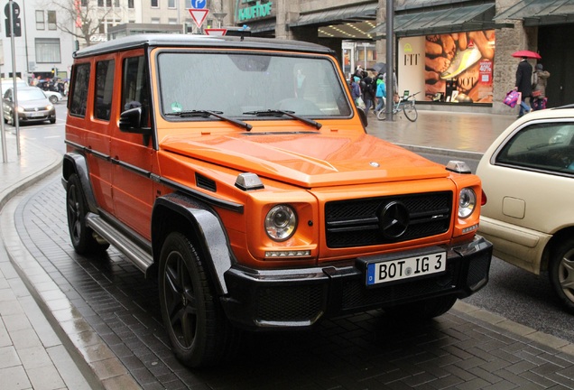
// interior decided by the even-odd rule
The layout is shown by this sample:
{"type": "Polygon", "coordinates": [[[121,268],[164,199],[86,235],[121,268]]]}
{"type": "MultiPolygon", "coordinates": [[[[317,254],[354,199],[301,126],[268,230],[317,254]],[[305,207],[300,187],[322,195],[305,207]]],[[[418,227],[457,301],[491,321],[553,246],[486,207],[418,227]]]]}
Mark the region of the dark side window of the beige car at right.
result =
{"type": "Polygon", "coordinates": [[[574,172],[574,123],[524,127],[505,144],[495,163],[548,172],[574,172]]]}

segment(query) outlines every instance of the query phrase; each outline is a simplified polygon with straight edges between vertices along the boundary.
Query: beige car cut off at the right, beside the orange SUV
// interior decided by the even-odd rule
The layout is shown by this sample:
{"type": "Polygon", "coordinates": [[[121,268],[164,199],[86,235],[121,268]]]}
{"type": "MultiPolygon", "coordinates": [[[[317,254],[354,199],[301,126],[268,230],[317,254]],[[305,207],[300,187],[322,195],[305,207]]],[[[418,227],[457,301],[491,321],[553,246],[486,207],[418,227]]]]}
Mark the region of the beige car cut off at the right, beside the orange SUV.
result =
{"type": "Polygon", "coordinates": [[[574,105],[515,121],[477,174],[486,193],[479,232],[494,254],[533,274],[548,272],[574,312],[574,105]]]}

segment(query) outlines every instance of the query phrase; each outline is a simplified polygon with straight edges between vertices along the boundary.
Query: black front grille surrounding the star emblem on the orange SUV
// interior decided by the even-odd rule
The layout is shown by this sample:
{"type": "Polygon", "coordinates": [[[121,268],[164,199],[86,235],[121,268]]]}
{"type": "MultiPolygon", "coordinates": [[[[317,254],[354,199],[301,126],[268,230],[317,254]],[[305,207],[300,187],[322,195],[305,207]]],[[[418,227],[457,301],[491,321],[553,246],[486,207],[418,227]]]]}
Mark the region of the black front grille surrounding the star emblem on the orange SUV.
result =
{"type": "Polygon", "coordinates": [[[375,246],[442,234],[449,230],[451,211],[451,191],[331,201],[325,205],[327,246],[375,246]],[[390,237],[381,218],[393,203],[406,210],[408,223],[390,237]]]}

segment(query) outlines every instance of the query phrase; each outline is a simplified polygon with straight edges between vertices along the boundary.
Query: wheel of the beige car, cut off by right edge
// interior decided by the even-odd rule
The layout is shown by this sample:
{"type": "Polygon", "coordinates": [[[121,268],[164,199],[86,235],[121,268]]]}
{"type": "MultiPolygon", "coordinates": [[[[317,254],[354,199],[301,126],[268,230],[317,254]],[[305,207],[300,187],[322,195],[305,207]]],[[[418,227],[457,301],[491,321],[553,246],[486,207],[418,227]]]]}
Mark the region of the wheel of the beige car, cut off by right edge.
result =
{"type": "Polygon", "coordinates": [[[549,277],[560,301],[574,312],[574,239],[565,240],[552,252],[549,277]]]}

